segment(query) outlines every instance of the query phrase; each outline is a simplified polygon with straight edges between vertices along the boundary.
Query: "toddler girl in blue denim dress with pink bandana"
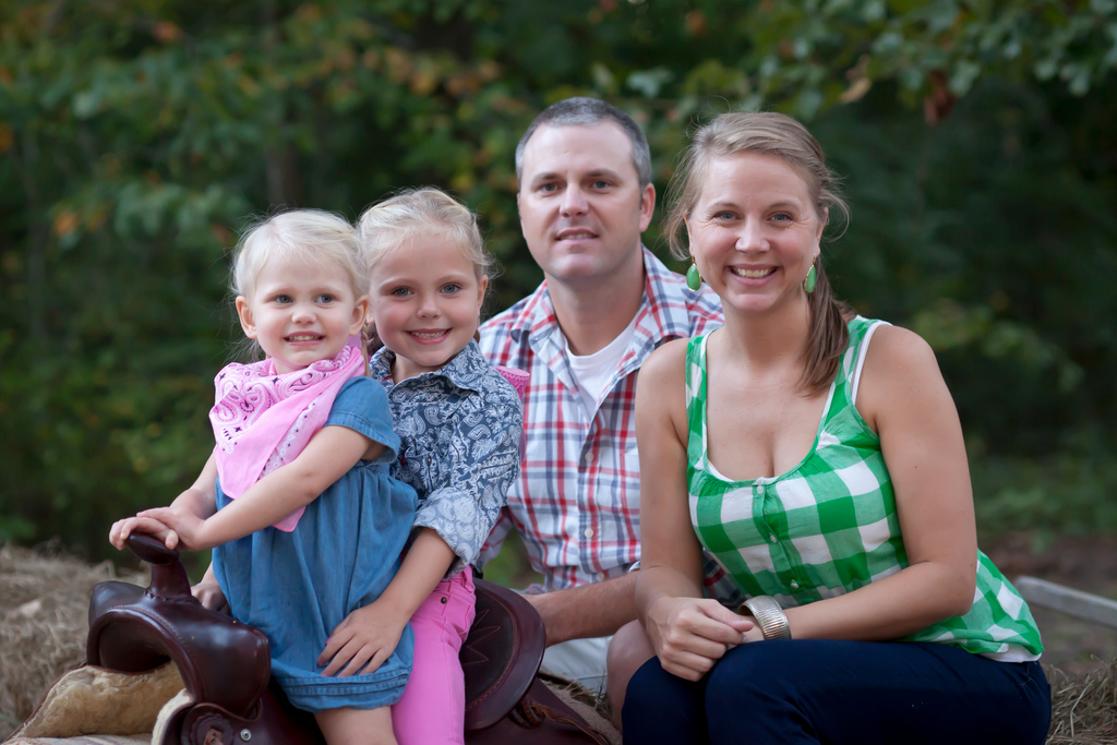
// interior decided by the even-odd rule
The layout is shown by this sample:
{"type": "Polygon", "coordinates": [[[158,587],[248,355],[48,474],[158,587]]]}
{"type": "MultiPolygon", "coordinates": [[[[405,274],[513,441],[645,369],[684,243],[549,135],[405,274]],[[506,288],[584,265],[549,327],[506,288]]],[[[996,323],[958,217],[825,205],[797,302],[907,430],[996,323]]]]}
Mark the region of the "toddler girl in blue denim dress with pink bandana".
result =
{"type": "Polygon", "coordinates": [[[353,662],[342,675],[317,662],[330,632],[394,576],[416,506],[390,472],[400,439],[366,375],[356,235],[326,212],[275,216],[242,239],[232,289],[267,359],[218,374],[217,447],[194,485],[117,522],[109,539],[120,548],[143,531],[168,547],[212,547],[230,612],[267,634],[273,675],[326,742],[395,743],[389,707],[411,668],[410,630],[376,650],[378,665],[365,667],[361,647],[335,657],[353,662]]]}

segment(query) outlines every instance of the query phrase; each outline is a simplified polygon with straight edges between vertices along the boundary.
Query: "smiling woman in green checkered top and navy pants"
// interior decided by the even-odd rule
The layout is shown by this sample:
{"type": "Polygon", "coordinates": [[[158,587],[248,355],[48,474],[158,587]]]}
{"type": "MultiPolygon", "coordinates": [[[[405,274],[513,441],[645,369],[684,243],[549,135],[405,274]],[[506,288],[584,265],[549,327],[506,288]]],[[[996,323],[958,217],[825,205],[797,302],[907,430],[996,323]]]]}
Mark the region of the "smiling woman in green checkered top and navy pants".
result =
{"type": "Polygon", "coordinates": [[[1042,743],[1039,632],[977,550],[934,353],[831,296],[820,241],[846,208],[818,142],[725,114],[677,179],[672,250],[685,229],[725,326],[640,373],[637,606],[657,657],[629,684],[626,742],[1042,743]],[[701,600],[703,547],[748,614],[701,600]]]}

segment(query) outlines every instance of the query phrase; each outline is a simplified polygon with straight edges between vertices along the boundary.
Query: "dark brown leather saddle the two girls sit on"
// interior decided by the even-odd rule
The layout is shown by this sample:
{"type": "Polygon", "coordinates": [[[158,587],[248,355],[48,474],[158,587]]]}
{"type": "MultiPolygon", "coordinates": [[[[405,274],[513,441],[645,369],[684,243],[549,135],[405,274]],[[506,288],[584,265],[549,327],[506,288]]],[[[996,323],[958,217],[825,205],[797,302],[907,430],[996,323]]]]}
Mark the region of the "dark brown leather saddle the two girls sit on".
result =
{"type": "MultiPolygon", "coordinates": [[[[94,589],[86,657],[124,672],[175,662],[193,704],[172,715],[161,745],[323,744],[314,717],[292,707],[271,680],[267,637],[203,608],[178,552],[141,534],[127,545],[151,563],[151,585],[94,589]]],[[[538,679],[546,637],[531,603],[485,580],[476,588],[476,618],[461,649],[466,742],[608,743],[538,679]]]]}

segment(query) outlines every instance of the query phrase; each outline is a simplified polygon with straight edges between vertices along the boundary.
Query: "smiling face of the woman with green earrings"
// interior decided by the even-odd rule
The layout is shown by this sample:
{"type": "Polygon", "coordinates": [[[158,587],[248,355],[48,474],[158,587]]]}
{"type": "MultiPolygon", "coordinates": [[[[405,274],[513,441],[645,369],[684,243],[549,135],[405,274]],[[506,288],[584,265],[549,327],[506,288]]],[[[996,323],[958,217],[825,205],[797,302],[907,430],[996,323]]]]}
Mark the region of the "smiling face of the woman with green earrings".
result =
{"type": "Polygon", "coordinates": [[[802,296],[825,227],[806,181],[777,155],[710,160],[687,218],[690,251],[727,312],[764,312],[802,296]]]}

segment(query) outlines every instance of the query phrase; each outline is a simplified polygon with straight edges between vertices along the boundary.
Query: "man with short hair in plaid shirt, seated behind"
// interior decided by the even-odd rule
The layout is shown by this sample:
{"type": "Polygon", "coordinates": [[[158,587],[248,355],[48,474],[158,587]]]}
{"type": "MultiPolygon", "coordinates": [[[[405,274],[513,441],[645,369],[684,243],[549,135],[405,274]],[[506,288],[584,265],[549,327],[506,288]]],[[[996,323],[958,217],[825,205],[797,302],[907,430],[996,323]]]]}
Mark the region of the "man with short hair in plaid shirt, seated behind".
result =
{"type": "Polygon", "coordinates": [[[641,243],[656,188],[648,141],[623,112],[593,98],[550,106],[516,147],[516,176],[544,281],[481,326],[491,363],[532,375],[522,475],[483,561],[519,531],[544,576],[527,595],[546,627],[543,668],[601,693],[610,638],[636,618],[637,372],[660,344],[719,326],[722,312],[641,243]]]}

